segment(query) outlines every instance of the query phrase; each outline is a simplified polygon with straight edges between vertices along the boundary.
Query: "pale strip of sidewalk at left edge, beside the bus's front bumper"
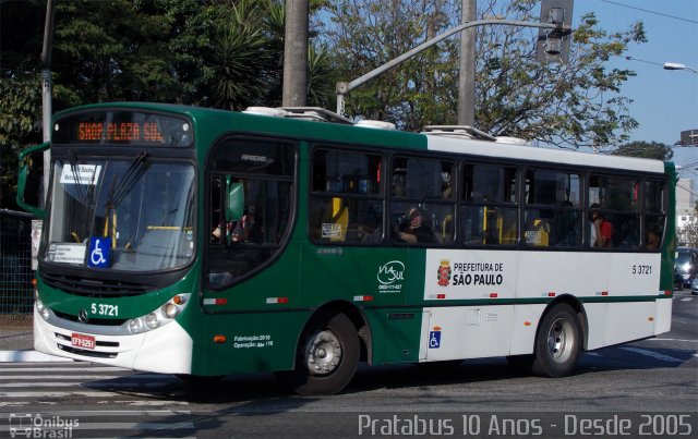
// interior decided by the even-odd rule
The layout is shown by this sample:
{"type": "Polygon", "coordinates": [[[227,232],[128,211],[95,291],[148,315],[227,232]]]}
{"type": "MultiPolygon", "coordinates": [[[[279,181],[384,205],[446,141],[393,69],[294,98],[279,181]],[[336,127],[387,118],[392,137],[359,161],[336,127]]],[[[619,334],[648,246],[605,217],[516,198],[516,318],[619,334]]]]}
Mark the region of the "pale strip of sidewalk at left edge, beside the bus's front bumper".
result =
{"type": "Polygon", "coordinates": [[[72,362],[34,350],[32,321],[0,320],[0,363],[16,362],[72,362]]]}

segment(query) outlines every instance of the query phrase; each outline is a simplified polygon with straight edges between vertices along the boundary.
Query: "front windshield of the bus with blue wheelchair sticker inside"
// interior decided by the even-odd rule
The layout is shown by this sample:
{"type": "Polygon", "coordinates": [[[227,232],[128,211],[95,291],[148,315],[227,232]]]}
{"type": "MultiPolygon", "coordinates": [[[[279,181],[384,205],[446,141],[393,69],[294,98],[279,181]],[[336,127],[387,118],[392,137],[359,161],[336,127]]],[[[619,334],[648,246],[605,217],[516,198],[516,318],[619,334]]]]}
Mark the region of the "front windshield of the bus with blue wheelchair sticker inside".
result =
{"type": "Polygon", "coordinates": [[[58,158],[43,259],[100,270],[154,271],[194,255],[194,168],[133,159],[58,158]]]}

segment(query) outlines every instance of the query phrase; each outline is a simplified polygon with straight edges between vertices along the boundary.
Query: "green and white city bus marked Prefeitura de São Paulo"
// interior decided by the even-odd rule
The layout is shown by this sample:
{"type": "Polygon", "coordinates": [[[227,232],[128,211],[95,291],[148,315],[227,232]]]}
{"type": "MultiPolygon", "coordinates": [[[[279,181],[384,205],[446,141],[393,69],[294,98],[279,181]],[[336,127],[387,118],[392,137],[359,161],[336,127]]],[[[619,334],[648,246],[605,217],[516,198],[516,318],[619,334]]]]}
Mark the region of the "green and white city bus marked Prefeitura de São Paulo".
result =
{"type": "Polygon", "coordinates": [[[673,163],[387,125],[142,102],[56,114],[20,166],[17,200],[45,219],[35,347],[326,394],[359,362],[506,356],[561,377],[581,352],[670,330],[673,163]],[[39,209],[24,187],[49,147],[39,209]]]}

